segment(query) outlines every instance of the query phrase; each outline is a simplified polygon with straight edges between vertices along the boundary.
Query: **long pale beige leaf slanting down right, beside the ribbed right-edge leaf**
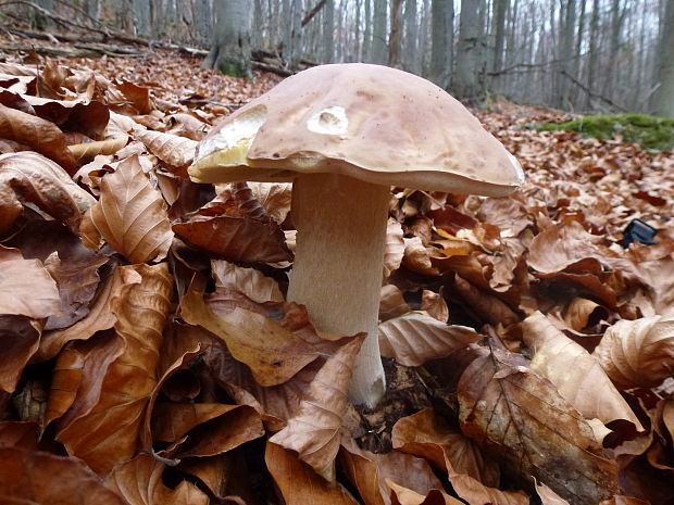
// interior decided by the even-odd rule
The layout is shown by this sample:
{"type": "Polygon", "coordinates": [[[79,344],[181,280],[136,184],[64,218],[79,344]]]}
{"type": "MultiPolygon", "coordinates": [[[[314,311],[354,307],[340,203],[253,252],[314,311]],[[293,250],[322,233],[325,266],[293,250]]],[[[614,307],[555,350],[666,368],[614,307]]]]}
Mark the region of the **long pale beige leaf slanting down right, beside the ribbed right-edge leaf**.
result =
{"type": "Polygon", "coordinates": [[[536,313],[527,317],[522,323],[522,336],[534,351],[532,369],[552,382],[562,397],[583,416],[597,418],[603,424],[624,419],[638,431],[644,431],[599,361],[558,330],[545,315],[536,313]]]}

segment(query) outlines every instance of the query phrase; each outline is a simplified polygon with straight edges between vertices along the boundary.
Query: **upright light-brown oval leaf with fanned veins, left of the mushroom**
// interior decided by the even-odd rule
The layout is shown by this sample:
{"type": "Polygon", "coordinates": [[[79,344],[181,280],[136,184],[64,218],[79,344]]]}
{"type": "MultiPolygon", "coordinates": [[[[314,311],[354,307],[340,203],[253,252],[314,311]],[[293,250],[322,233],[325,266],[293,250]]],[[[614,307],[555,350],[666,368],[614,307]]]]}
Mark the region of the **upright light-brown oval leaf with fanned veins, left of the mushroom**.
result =
{"type": "Polygon", "coordinates": [[[114,174],[103,177],[100,200],[87,216],[85,222],[130,263],[162,260],[173,240],[166,204],[138,156],[126,159],[114,174]]]}

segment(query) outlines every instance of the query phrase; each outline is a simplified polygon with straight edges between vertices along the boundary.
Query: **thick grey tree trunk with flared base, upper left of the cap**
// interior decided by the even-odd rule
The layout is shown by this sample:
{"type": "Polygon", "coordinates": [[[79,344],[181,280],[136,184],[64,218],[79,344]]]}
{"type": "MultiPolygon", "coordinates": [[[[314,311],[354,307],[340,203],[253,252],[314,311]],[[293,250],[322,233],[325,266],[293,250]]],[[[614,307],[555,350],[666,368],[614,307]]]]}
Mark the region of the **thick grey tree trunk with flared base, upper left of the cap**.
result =
{"type": "Polygon", "coordinates": [[[204,68],[215,68],[237,77],[250,76],[251,0],[216,0],[214,2],[214,40],[204,68]]]}

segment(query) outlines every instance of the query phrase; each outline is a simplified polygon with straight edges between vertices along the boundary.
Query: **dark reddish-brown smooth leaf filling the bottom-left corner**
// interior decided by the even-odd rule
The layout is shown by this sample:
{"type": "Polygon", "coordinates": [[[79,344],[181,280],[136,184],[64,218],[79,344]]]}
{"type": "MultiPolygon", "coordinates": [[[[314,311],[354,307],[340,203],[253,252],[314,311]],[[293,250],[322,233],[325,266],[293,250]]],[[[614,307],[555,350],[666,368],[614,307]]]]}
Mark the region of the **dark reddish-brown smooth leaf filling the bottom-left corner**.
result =
{"type": "Polygon", "coordinates": [[[0,503],[128,505],[82,462],[22,447],[0,447],[0,503]]]}

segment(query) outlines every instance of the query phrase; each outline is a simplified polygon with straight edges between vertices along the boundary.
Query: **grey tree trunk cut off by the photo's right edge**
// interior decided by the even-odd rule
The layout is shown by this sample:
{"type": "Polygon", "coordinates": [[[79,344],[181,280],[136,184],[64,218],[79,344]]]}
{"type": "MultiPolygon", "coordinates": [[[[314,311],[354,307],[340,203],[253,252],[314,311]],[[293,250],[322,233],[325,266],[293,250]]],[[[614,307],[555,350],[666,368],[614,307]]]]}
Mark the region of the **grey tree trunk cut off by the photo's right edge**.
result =
{"type": "Polygon", "coordinates": [[[653,94],[653,114],[674,117],[674,2],[665,2],[664,22],[661,24],[658,89],[653,94]]]}

